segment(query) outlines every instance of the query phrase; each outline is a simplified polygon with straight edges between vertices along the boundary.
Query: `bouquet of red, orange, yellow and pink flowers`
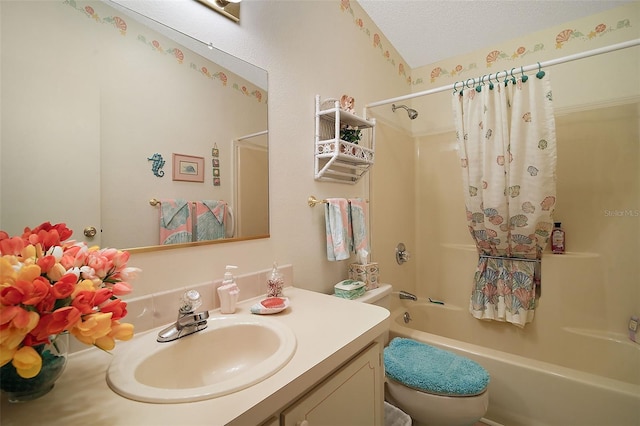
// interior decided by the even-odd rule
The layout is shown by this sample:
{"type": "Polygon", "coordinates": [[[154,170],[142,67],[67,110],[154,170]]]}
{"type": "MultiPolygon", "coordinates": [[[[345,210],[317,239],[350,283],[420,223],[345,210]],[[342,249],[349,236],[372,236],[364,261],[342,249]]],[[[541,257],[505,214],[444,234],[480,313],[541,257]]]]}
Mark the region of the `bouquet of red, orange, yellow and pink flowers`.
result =
{"type": "Polygon", "coordinates": [[[12,362],[20,377],[35,377],[42,358],[34,347],[69,332],[103,350],[133,337],[120,323],[140,272],[127,267],[129,253],[68,240],[64,223],[25,228],[22,236],[0,231],[0,367],[12,362]]]}

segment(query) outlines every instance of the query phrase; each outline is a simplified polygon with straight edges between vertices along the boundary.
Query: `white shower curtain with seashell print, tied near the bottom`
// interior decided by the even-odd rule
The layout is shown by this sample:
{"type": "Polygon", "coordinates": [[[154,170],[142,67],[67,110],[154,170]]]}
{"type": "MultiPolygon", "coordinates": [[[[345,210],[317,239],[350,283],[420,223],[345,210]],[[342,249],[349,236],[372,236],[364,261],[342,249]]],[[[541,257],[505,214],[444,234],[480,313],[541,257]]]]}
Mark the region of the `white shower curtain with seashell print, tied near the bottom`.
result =
{"type": "Polygon", "coordinates": [[[469,232],[478,249],[470,313],[533,320],[542,251],[553,228],[556,137],[546,78],[453,95],[469,232]]]}

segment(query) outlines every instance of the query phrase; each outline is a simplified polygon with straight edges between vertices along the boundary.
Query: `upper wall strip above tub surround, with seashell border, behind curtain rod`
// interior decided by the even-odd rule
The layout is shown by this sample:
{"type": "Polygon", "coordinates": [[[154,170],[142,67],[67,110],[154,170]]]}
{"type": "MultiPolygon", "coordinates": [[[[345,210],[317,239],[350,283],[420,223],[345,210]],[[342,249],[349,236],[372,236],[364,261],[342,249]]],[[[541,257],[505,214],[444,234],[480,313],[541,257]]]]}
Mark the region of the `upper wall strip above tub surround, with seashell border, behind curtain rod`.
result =
{"type": "MultiPolygon", "coordinates": [[[[412,92],[431,90],[496,73],[504,80],[505,70],[558,59],[584,51],[640,38],[640,3],[632,2],[607,12],[567,22],[497,46],[452,57],[412,71],[412,92]],[[604,28],[600,31],[600,28],[604,28]],[[598,29],[598,30],[596,30],[598,29]],[[572,35],[563,36],[567,31],[572,35]],[[559,42],[558,40],[565,40],[559,42]],[[489,58],[497,57],[491,61],[489,58]],[[434,75],[435,77],[432,77],[434,75]]],[[[508,36],[508,35],[507,35],[508,36]]],[[[464,37],[461,33],[461,43],[464,37]]],[[[588,109],[609,103],[633,101],[640,96],[640,47],[568,62],[545,69],[551,78],[556,111],[588,109]],[[624,82],[624,83],[622,83],[624,82]],[[619,84],[622,83],[622,84],[619,84]]],[[[535,72],[529,73],[534,75],[535,72]]],[[[484,81],[488,81],[487,78],[484,81]]],[[[460,84],[457,88],[462,87],[460,84]]],[[[412,107],[424,111],[412,122],[414,135],[453,130],[452,91],[416,98],[412,107]]]]}

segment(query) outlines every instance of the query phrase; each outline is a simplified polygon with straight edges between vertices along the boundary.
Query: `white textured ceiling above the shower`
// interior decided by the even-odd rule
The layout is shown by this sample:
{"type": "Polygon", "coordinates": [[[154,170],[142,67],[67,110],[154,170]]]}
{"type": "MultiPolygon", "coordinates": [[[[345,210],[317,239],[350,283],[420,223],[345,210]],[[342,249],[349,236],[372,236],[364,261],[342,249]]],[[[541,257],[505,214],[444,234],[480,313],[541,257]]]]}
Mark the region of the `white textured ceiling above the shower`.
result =
{"type": "Polygon", "coordinates": [[[463,55],[632,1],[357,0],[411,68],[463,55]]]}

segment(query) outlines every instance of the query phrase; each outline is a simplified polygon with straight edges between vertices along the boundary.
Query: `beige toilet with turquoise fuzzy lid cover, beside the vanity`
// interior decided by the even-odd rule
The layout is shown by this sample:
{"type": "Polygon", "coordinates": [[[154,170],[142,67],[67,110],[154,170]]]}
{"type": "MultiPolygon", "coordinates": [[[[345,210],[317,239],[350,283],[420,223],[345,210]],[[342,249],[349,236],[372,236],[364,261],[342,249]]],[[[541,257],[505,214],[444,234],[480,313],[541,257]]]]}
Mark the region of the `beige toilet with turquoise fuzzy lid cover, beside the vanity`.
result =
{"type": "MultiPolygon", "coordinates": [[[[381,284],[354,300],[389,309],[391,290],[381,284]]],[[[384,354],[385,399],[413,425],[469,426],[487,412],[489,373],[475,361],[406,338],[394,338],[384,354]]]]}

